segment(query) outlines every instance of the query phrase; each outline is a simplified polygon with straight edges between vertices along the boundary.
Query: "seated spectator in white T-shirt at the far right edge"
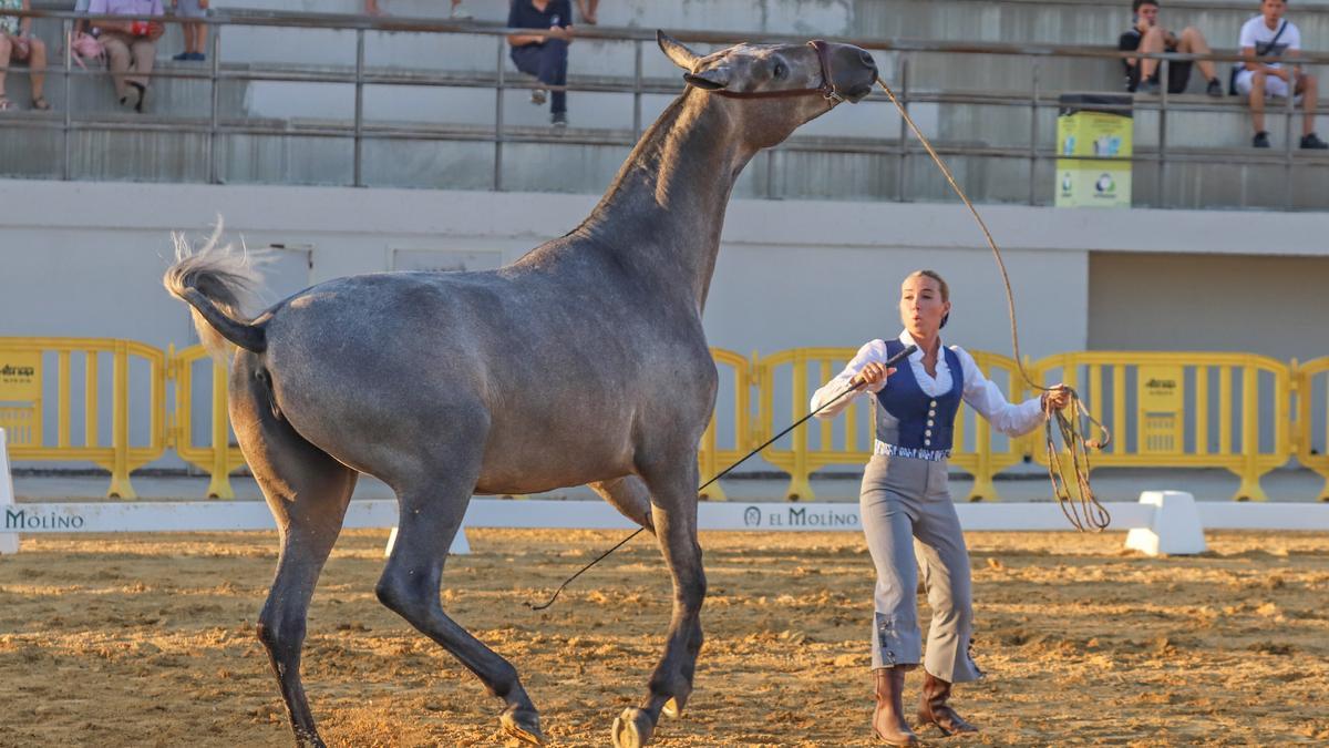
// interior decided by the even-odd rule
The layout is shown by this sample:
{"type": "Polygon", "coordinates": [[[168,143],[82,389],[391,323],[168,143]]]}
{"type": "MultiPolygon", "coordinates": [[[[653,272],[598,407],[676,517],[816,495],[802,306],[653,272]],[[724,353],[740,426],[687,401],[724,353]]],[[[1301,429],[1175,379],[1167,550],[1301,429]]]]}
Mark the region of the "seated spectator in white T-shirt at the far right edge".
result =
{"type": "Polygon", "coordinates": [[[1269,133],[1264,129],[1264,101],[1268,96],[1288,96],[1301,100],[1301,148],[1324,149],[1329,144],[1316,136],[1316,100],[1320,84],[1316,77],[1301,72],[1301,67],[1290,63],[1282,67],[1282,59],[1296,59],[1301,55],[1301,32],[1282,17],[1288,4],[1282,0],[1263,0],[1260,15],[1241,25],[1237,45],[1241,53],[1251,59],[1237,64],[1236,89],[1251,101],[1251,120],[1255,125],[1256,148],[1269,148],[1269,133]]]}

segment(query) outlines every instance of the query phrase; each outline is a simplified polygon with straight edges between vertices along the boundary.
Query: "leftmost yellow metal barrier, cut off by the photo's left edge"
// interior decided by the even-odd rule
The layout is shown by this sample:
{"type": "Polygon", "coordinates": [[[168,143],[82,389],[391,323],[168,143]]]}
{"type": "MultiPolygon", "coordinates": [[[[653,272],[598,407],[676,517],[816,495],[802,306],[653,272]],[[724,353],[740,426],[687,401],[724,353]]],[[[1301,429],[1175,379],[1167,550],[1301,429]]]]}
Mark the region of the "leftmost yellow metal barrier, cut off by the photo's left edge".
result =
{"type": "Polygon", "coordinates": [[[132,341],[102,338],[0,338],[0,427],[9,433],[13,459],[85,461],[110,471],[108,496],[133,499],[130,471],[159,458],[166,449],[163,391],[166,357],[162,351],[132,341]],[[110,446],[101,446],[100,386],[102,354],[110,357],[110,446]],[[48,445],[44,415],[49,407],[43,373],[45,359],[56,361],[56,443],[48,445]],[[130,359],[148,363],[149,437],[134,446],[129,437],[130,359]],[[84,369],[84,439],[70,439],[73,385],[70,361],[84,369]]]}

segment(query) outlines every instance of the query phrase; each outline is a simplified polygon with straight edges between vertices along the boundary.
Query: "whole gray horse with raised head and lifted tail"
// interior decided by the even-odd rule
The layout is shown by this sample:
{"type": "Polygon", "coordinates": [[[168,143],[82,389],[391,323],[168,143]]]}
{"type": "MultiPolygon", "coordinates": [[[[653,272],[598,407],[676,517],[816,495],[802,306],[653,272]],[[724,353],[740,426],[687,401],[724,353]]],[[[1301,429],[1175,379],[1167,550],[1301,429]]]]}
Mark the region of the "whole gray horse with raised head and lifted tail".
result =
{"type": "MultiPolygon", "coordinates": [[[[844,44],[740,44],[699,56],[577,229],[488,273],[328,281],[247,319],[258,277],[210,242],[167,270],[205,343],[239,347],[230,417],[276,518],[282,551],[258,636],[298,744],[322,745],[300,681],[306,612],[360,472],[397,495],[397,540],[376,592],[506,701],[500,723],[541,743],[517,669],[444,612],[443,564],[472,494],[589,483],[651,530],[672,575],[663,656],[639,708],[614,721],[645,745],[682,711],[702,647],[696,450],[716,371],[702,309],[730,192],[762,148],[867,96],[872,56],[844,44]]],[[[516,507],[514,507],[516,508],[516,507]]]]}

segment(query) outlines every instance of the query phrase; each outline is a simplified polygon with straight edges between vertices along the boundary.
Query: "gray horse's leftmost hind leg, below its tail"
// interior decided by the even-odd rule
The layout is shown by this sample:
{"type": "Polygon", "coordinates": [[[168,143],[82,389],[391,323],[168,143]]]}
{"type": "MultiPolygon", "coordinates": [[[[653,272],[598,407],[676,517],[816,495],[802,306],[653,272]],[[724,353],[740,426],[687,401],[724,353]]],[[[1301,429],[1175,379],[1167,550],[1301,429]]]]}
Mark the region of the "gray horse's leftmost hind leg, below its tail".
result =
{"type": "Polygon", "coordinates": [[[276,576],[258,616],[258,638],[276,672],[296,743],[322,747],[300,681],[300,648],[310,598],[342,531],[358,474],[272,414],[266,385],[254,377],[255,365],[249,354],[237,357],[231,423],[282,538],[276,576]]]}

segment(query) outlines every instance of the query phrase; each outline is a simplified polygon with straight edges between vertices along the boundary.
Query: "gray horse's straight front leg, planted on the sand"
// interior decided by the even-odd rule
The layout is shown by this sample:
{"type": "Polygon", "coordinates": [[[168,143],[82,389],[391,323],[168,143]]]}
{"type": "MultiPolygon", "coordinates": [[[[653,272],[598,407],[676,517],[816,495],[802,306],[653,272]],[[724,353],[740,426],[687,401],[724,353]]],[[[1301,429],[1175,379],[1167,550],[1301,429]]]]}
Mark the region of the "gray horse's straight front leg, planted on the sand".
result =
{"type": "Polygon", "coordinates": [[[641,707],[629,707],[614,720],[615,748],[646,745],[661,712],[676,716],[692,692],[692,672],[702,650],[702,600],[706,572],[696,543],[696,450],[668,466],[643,470],[651,492],[651,520],[674,580],[674,615],[670,619],[664,655],[651,673],[649,693],[641,707]]]}

